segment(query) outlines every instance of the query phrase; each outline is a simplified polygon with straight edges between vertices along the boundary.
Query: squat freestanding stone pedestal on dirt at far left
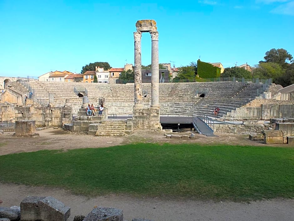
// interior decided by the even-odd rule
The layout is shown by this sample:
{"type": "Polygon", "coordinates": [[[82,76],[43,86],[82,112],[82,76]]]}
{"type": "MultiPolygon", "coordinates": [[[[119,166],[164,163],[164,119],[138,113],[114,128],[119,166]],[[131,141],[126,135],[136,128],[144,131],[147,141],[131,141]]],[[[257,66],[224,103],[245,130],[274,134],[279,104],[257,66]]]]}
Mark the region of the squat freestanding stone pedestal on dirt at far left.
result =
{"type": "Polygon", "coordinates": [[[38,137],[36,133],[36,121],[34,120],[20,120],[15,121],[15,133],[16,137],[38,137]]]}

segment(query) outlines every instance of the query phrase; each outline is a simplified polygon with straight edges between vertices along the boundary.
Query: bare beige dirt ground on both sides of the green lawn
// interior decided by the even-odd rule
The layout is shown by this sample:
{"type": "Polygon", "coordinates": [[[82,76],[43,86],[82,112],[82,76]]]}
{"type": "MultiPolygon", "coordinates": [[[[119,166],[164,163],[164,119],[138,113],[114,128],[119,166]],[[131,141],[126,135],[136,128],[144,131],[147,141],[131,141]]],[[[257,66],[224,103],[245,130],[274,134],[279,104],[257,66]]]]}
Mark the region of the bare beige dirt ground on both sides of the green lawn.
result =
{"type": "MultiPolygon", "coordinates": [[[[196,139],[167,139],[163,133],[137,130],[134,134],[124,137],[94,137],[64,132],[62,129],[39,131],[39,138],[15,138],[12,133],[0,137],[0,155],[38,150],[68,150],[87,147],[107,147],[136,142],[157,143],[201,143],[201,144],[232,144],[264,146],[261,142],[251,141],[248,135],[228,135],[215,133],[219,137],[206,137],[196,134],[196,139]],[[111,143],[112,142],[112,143],[111,143]]],[[[170,134],[170,133],[169,133],[170,134]]],[[[175,133],[174,133],[175,134],[175,133]]],[[[190,133],[187,133],[190,134],[190,133]]],[[[284,146],[285,145],[271,145],[284,146]]],[[[173,201],[160,198],[133,198],[123,195],[106,195],[87,198],[71,194],[69,191],[47,187],[29,187],[15,184],[0,183],[0,206],[19,206],[27,196],[52,196],[71,208],[69,221],[75,215],[87,215],[94,206],[115,207],[122,209],[124,220],[146,218],[160,220],[294,220],[294,199],[274,199],[250,203],[233,202],[202,202],[173,201]],[[1,201],[0,201],[1,202],[1,201]]]]}

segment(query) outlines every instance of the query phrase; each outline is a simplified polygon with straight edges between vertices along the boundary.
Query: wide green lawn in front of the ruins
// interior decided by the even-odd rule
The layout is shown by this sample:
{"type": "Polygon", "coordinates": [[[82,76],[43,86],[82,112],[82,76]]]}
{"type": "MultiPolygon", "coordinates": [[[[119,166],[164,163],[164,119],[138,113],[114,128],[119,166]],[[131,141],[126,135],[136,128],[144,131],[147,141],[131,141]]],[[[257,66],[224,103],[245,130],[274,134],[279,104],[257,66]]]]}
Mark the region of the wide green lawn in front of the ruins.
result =
{"type": "Polygon", "coordinates": [[[95,196],[248,201],[294,197],[294,149],[136,144],[0,156],[0,182],[95,196]]]}

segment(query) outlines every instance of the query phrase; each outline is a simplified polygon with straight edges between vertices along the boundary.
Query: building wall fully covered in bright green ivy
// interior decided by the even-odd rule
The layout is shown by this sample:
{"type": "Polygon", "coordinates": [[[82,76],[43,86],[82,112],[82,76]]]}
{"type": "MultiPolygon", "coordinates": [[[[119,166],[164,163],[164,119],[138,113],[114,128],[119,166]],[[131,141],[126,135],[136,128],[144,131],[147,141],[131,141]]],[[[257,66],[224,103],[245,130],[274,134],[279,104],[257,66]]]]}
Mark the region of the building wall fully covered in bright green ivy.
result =
{"type": "Polygon", "coordinates": [[[197,61],[197,74],[201,78],[216,78],[221,76],[221,68],[213,66],[212,64],[197,61]]]}

